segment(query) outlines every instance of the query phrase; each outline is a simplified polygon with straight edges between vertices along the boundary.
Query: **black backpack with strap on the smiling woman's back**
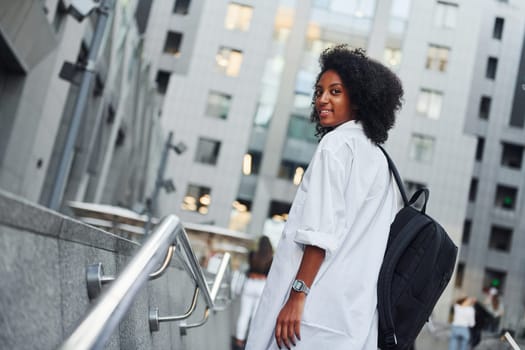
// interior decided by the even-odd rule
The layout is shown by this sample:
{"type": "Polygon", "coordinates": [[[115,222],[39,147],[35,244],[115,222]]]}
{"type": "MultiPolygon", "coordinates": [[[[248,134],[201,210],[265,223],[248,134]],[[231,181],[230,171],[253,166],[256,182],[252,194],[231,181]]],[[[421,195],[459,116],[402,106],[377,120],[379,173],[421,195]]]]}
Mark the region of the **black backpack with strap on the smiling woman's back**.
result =
{"type": "Polygon", "coordinates": [[[408,200],[394,162],[380,147],[401,192],[404,207],[397,213],[388,237],[377,284],[378,347],[412,346],[447,286],[458,248],[443,227],[425,214],[429,191],[417,190],[408,200]],[[421,209],[414,203],[424,194],[421,209]]]}

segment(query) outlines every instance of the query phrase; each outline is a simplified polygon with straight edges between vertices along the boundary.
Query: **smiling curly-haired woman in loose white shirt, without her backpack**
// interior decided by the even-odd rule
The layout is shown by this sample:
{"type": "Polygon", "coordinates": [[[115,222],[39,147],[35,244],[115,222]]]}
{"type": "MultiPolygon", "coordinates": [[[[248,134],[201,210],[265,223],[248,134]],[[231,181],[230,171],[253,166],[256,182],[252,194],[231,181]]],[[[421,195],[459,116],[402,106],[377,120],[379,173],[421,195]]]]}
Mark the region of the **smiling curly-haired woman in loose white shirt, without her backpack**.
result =
{"type": "Polygon", "coordinates": [[[278,244],[247,350],[377,349],[377,279],[398,193],[378,148],[401,82],[346,45],[320,57],[312,119],[321,141],[278,244]]]}

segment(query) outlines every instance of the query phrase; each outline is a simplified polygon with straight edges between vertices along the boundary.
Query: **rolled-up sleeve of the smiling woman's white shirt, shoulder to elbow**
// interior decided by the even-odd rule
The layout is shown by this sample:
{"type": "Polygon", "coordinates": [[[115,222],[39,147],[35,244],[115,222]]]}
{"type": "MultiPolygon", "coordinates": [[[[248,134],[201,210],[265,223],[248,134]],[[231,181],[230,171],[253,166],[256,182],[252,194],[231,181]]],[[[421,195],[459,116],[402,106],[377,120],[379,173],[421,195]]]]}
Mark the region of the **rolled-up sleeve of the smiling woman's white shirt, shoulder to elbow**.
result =
{"type": "Polygon", "coordinates": [[[345,174],[349,174],[350,169],[345,169],[330,150],[321,149],[310,162],[308,172],[294,241],[324,249],[329,259],[338,249],[345,231],[345,174]]]}

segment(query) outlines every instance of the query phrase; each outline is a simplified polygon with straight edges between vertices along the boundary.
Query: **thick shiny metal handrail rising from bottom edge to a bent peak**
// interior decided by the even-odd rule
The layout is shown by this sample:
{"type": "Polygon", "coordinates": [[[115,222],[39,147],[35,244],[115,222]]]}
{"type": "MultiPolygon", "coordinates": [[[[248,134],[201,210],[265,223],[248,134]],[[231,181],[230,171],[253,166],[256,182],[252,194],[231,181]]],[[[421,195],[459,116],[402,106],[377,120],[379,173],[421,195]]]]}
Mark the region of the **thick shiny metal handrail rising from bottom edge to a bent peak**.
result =
{"type": "Polygon", "coordinates": [[[168,215],[147,237],[130,263],[113,281],[108,290],[102,294],[98,302],[59,349],[102,349],[131,306],[133,299],[148,280],[150,273],[164,258],[163,252],[170,245],[173,245],[177,238],[186,252],[197,287],[201,290],[207,306],[213,309],[214,298],[210,294],[184,227],[177,216],[168,215]]]}

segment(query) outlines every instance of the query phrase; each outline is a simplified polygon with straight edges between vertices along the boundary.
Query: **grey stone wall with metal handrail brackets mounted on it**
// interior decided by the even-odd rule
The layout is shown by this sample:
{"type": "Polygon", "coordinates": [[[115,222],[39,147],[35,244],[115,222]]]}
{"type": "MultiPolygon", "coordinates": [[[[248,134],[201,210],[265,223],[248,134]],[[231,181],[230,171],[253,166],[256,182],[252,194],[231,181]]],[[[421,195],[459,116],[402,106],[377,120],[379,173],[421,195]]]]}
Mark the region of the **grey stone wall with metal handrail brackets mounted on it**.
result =
{"type": "MultiPolygon", "coordinates": [[[[0,191],[0,344],[5,349],[56,349],[86,315],[86,267],[101,262],[118,276],[140,246],[0,191]]],[[[184,313],[194,282],[173,259],[149,281],[112,334],[106,349],[217,349],[230,347],[233,312],[212,313],[208,322],[181,335],[178,322],[151,333],[150,308],[161,316],[184,313]]],[[[204,301],[187,323],[198,322],[204,301]]]]}

